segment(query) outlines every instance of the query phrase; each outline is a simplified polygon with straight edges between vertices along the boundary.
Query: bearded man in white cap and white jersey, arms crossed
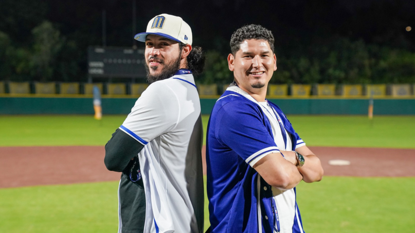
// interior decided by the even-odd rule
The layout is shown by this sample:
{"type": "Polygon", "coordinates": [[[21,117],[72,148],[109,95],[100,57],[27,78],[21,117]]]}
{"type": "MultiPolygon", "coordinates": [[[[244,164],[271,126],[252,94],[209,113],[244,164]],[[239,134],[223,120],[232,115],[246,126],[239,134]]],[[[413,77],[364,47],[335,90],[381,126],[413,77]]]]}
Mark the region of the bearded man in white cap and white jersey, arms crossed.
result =
{"type": "Polygon", "coordinates": [[[205,55],[181,17],[153,17],[134,37],[145,45],[150,85],[105,146],[122,172],[118,233],[203,231],[202,122],[193,74],[205,55]]]}

